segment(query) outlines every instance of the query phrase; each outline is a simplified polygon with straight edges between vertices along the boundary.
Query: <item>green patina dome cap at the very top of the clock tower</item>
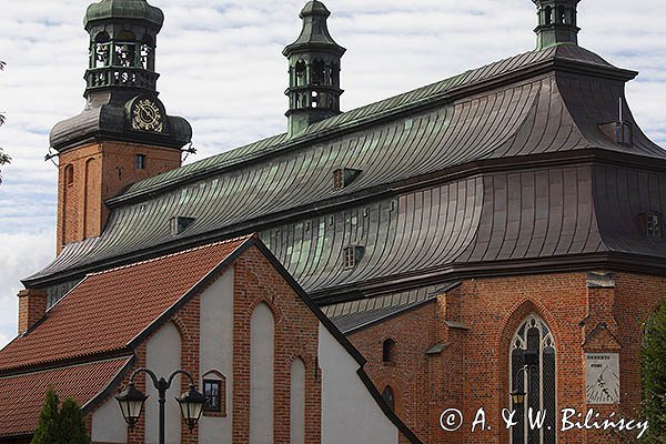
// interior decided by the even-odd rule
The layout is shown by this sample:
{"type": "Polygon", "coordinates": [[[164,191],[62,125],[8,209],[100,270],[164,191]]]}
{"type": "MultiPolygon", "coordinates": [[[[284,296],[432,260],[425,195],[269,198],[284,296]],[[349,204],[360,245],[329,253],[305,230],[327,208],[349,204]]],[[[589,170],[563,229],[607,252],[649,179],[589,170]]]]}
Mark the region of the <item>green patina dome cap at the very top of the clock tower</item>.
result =
{"type": "Polygon", "coordinates": [[[88,7],[83,24],[88,28],[93,21],[111,19],[145,20],[162,27],[164,13],[145,0],[102,0],[88,7]]]}

